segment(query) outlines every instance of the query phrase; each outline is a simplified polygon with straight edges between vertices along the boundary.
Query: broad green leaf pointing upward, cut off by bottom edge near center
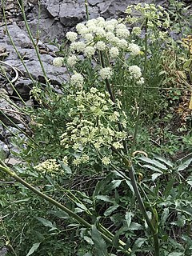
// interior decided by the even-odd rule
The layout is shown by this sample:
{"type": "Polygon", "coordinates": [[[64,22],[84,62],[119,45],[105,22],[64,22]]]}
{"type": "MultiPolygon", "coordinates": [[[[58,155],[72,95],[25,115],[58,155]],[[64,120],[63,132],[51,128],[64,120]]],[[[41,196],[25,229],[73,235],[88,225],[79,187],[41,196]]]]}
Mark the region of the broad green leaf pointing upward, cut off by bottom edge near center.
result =
{"type": "Polygon", "coordinates": [[[102,238],[102,235],[97,230],[96,226],[92,226],[91,237],[94,241],[95,256],[108,256],[106,242],[102,238]]]}

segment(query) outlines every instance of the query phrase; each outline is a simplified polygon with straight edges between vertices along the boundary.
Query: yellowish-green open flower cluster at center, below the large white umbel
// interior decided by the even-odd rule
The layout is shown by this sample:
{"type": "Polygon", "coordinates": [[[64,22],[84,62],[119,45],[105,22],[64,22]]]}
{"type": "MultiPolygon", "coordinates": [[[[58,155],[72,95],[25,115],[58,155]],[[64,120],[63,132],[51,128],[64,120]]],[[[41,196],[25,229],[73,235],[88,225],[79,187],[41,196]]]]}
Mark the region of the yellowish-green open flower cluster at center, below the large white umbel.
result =
{"type": "MultiPolygon", "coordinates": [[[[65,149],[70,147],[74,151],[82,152],[74,159],[74,165],[89,160],[85,151],[91,146],[96,150],[103,149],[104,146],[108,150],[111,146],[116,149],[122,148],[126,132],[118,131],[117,122],[121,121],[126,126],[126,114],[114,111],[114,102],[110,100],[109,94],[102,93],[94,87],[88,93],[82,90],[74,98],[73,106],[70,110],[73,122],[66,125],[61,145],[65,149]]],[[[103,164],[107,165],[109,161],[107,163],[104,160],[103,164]]]]}

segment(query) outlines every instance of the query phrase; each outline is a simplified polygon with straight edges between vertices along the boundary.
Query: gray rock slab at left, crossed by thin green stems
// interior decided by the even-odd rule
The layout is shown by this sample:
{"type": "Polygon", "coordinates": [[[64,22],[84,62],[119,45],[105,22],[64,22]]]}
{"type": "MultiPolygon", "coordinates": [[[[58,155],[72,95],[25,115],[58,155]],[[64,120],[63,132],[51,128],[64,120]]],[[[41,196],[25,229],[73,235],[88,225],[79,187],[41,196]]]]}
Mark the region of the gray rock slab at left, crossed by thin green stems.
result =
{"type": "MultiPolygon", "coordinates": [[[[15,23],[8,26],[8,29],[11,37],[14,38],[14,43],[17,46],[19,54],[21,54],[23,58],[23,62],[26,64],[27,70],[23,66],[21,60],[19,60],[18,55],[15,53],[14,47],[10,45],[10,38],[8,38],[7,35],[4,35],[2,37],[2,46],[6,46],[7,51],[10,52],[9,56],[6,58],[6,62],[17,67],[26,78],[30,78],[31,75],[34,78],[34,81],[46,82],[37,54],[35,53],[35,50],[31,48],[31,44],[29,43],[30,39],[27,37],[27,34],[15,23]],[[23,40],[21,40],[21,38],[23,38],[23,40]],[[23,46],[27,48],[23,48],[23,46]]],[[[0,34],[1,33],[2,28],[0,28],[0,34]]],[[[42,65],[46,71],[47,78],[53,84],[62,84],[69,79],[69,75],[66,72],[66,68],[54,67],[52,65],[53,59],[54,57],[49,53],[41,54],[42,65]]]]}

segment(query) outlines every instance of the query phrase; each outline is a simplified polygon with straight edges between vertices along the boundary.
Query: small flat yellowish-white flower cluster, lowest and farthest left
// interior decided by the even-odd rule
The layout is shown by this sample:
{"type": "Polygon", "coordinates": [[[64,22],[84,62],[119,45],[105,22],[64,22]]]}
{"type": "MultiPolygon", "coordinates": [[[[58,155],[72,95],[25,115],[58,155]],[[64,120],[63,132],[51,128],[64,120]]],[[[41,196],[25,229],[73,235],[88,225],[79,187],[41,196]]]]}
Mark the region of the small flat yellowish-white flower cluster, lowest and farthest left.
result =
{"type": "Polygon", "coordinates": [[[42,173],[57,173],[60,169],[60,165],[55,159],[47,159],[46,161],[34,166],[34,169],[41,171],[42,173]]]}

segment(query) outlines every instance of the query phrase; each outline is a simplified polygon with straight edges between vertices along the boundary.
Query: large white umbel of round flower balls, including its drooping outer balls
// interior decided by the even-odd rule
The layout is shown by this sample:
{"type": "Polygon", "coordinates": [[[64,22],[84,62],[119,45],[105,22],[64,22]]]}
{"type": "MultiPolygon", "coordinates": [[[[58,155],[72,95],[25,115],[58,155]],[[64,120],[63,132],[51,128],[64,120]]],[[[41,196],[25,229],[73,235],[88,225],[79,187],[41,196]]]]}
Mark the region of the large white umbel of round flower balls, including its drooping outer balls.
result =
{"type": "MultiPolygon", "coordinates": [[[[86,74],[82,75],[78,70],[78,62],[82,58],[91,59],[98,78],[112,81],[116,62],[118,66],[121,62],[123,70],[129,69],[127,56],[135,57],[141,54],[141,47],[131,41],[130,31],[126,25],[116,19],[109,21],[102,17],[91,19],[85,24],[79,23],[76,30],[77,33],[66,33],[66,38],[70,41],[66,66],[74,73],[70,79],[71,85],[78,86],[79,89],[82,89],[83,79],[86,79],[86,74]]],[[[143,82],[141,72],[137,78],[138,84],[141,84],[143,82]]]]}

